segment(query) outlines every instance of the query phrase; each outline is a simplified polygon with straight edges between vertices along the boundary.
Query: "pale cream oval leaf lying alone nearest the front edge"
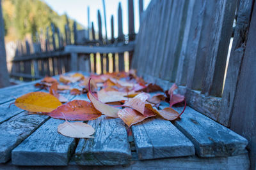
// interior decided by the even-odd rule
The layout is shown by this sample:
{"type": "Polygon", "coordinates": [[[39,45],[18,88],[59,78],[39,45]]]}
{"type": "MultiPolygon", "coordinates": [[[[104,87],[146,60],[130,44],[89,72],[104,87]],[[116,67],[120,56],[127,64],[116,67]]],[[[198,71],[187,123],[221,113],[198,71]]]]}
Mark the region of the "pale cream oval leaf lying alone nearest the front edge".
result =
{"type": "Polygon", "coordinates": [[[92,135],[95,130],[91,125],[83,122],[64,122],[58,125],[58,132],[70,138],[94,138],[92,135]]]}

